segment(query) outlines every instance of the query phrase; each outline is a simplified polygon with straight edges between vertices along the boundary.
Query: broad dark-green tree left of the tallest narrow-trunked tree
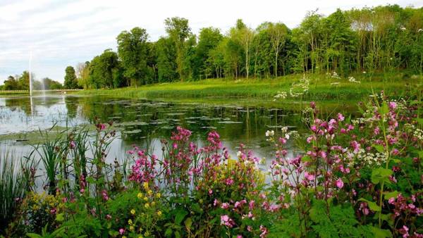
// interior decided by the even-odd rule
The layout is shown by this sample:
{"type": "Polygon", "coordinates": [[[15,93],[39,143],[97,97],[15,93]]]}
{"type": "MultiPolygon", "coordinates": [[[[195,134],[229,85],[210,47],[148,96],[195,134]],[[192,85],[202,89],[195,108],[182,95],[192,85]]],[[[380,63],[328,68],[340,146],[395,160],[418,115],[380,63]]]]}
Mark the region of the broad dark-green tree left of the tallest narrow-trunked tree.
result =
{"type": "Polygon", "coordinates": [[[145,29],[135,27],[130,32],[123,31],[116,38],[118,56],[122,61],[123,75],[128,77],[132,85],[147,82],[148,34],[145,29]]]}

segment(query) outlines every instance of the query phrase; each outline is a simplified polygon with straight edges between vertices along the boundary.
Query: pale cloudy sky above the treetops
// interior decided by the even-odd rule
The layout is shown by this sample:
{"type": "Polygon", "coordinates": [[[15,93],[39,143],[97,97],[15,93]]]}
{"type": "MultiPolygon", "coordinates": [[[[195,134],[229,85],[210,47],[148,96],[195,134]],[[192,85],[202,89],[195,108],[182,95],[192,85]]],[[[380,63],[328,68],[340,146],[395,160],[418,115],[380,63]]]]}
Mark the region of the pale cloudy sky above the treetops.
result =
{"type": "Polygon", "coordinates": [[[329,15],[336,8],[398,4],[422,7],[422,0],[0,0],[0,84],[30,67],[35,79],[63,82],[68,65],[116,50],[116,36],[142,27],[149,40],[164,36],[164,20],[187,18],[192,32],[219,27],[226,32],[243,19],[250,27],[265,21],[293,28],[307,11],[329,15]],[[30,60],[31,58],[31,60],[30,60]]]}

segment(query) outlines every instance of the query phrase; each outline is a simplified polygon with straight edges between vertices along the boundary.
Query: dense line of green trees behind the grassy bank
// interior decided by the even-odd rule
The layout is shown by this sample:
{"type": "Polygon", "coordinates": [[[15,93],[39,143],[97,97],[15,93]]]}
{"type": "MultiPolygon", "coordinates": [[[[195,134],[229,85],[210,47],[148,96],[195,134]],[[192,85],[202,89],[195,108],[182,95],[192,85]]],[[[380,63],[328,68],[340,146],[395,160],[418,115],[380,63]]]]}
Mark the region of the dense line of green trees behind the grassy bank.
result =
{"type": "Polygon", "coordinates": [[[116,88],[291,73],[423,73],[423,8],[338,9],[328,16],[310,11],[293,29],[269,22],[252,29],[237,20],[228,32],[204,27],[194,35],[185,18],[167,18],[164,26],[166,35],[157,42],[149,41],[141,27],[121,32],[117,52],[106,49],[91,61],[68,66],[64,87],[116,88]]]}

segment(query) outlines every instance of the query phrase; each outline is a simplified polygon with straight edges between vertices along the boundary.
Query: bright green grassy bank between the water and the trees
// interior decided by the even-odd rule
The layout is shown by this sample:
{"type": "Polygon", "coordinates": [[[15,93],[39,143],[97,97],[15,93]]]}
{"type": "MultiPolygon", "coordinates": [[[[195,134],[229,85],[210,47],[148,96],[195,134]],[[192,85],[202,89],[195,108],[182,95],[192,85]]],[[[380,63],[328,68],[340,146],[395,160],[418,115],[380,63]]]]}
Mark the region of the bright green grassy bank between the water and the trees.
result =
{"type": "MultiPolygon", "coordinates": [[[[327,75],[309,75],[309,90],[303,99],[337,100],[362,99],[375,92],[384,90],[390,94],[403,95],[410,90],[421,89],[421,76],[396,75],[353,75],[358,82],[346,78],[327,75]]],[[[171,82],[152,84],[142,87],[121,89],[93,89],[77,92],[85,95],[124,96],[133,98],[204,98],[204,97],[243,97],[271,99],[278,92],[287,92],[302,75],[288,75],[269,80],[255,79],[210,79],[196,82],[171,82]]]]}

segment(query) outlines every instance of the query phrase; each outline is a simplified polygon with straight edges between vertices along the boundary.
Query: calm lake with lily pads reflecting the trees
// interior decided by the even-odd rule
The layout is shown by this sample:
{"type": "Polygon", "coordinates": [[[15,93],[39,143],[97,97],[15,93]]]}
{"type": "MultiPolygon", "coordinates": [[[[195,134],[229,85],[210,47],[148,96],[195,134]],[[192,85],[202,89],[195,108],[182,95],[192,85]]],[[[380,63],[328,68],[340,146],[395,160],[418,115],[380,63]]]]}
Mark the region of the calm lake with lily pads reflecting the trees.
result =
{"type": "MultiPolygon", "coordinates": [[[[22,154],[37,144],[37,130],[55,127],[87,125],[99,118],[113,121],[117,137],[111,144],[109,160],[120,158],[134,144],[154,149],[160,154],[160,139],[168,139],[180,125],[192,131],[192,138],[202,145],[207,133],[216,130],[223,146],[232,155],[240,143],[252,149],[256,156],[271,158],[273,147],[266,142],[267,130],[304,131],[302,108],[307,102],[257,104],[237,103],[237,100],[219,99],[219,103],[116,99],[104,96],[28,96],[0,98],[0,148],[14,149],[22,154]],[[35,131],[35,132],[34,132],[35,131]],[[32,132],[32,133],[31,133],[32,132]]],[[[271,99],[269,99],[271,101],[271,99]]],[[[332,103],[321,106],[321,116],[338,111],[353,111],[353,104],[332,103]]],[[[288,149],[295,149],[288,144],[288,149]]]]}

